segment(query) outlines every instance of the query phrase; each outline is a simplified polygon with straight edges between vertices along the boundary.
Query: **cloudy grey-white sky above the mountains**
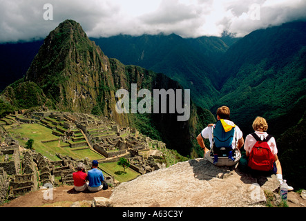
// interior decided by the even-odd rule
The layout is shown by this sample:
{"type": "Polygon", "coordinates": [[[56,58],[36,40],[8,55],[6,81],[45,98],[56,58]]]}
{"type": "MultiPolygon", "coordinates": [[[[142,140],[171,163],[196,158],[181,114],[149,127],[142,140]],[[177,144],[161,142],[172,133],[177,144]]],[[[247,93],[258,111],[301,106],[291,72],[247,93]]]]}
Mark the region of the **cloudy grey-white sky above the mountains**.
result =
{"type": "Polygon", "coordinates": [[[306,1],[0,0],[0,43],[44,38],[65,19],[79,22],[89,37],[160,32],[199,37],[224,31],[243,37],[258,28],[306,21],[306,1]]]}

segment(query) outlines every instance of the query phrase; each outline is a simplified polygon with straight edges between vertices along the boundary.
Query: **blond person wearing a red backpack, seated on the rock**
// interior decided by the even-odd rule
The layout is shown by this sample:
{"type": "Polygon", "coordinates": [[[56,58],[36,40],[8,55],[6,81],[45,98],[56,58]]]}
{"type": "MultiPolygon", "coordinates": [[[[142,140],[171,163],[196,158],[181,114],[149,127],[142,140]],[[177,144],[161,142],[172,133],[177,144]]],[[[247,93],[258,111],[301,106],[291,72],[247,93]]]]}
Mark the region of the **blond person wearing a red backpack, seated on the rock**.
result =
{"type": "MultiPolygon", "coordinates": [[[[278,149],[274,137],[266,132],[268,129],[266,119],[256,117],[252,127],[255,132],[245,138],[247,166],[251,171],[276,174],[278,181],[282,184],[283,172],[277,155],[278,149]]],[[[288,190],[293,190],[292,186],[288,186],[288,190]]]]}

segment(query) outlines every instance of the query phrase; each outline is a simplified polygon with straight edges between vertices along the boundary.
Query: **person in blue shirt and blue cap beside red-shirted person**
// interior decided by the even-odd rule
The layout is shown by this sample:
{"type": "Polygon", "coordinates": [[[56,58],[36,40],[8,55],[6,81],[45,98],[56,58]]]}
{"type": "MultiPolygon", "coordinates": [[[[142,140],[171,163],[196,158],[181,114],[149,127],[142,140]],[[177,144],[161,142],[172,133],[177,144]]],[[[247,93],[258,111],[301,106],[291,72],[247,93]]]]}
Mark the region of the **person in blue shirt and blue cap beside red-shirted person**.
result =
{"type": "Polygon", "coordinates": [[[102,171],[97,169],[99,162],[97,160],[93,160],[92,169],[88,171],[88,190],[90,192],[97,192],[103,189],[104,176],[102,171]]]}

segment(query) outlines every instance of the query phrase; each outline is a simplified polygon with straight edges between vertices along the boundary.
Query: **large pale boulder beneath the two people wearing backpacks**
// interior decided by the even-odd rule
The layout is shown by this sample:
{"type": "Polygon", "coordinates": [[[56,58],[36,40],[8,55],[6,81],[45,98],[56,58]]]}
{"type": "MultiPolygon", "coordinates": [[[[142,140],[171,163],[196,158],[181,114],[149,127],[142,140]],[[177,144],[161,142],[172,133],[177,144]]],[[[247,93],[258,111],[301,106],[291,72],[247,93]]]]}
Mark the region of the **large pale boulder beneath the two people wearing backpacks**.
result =
{"type": "Polygon", "coordinates": [[[278,186],[274,175],[256,179],[235,168],[195,159],[122,183],[110,200],[115,207],[265,206],[263,190],[278,186]]]}

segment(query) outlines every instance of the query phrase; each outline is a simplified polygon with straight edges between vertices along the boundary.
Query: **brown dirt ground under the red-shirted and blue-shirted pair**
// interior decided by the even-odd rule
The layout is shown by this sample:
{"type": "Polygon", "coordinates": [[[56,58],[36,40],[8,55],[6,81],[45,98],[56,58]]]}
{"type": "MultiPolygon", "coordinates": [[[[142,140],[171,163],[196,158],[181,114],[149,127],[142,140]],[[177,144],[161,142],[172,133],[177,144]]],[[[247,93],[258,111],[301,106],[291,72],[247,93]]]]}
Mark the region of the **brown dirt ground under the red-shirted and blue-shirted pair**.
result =
{"type": "Polygon", "coordinates": [[[90,206],[91,202],[93,201],[93,198],[110,198],[111,193],[113,192],[113,189],[108,188],[105,191],[102,190],[97,193],[90,193],[89,191],[79,193],[75,191],[75,189],[73,189],[73,186],[60,186],[53,189],[53,199],[48,200],[48,198],[50,198],[50,194],[49,192],[44,192],[45,190],[40,189],[39,191],[27,193],[26,195],[23,195],[8,203],[5,203],[0,207],[70,207],[73,202],[82,202],[81,205],[90,206]],[[46,198],[47,200],[45,200],[44,198],[46,198]]]}

